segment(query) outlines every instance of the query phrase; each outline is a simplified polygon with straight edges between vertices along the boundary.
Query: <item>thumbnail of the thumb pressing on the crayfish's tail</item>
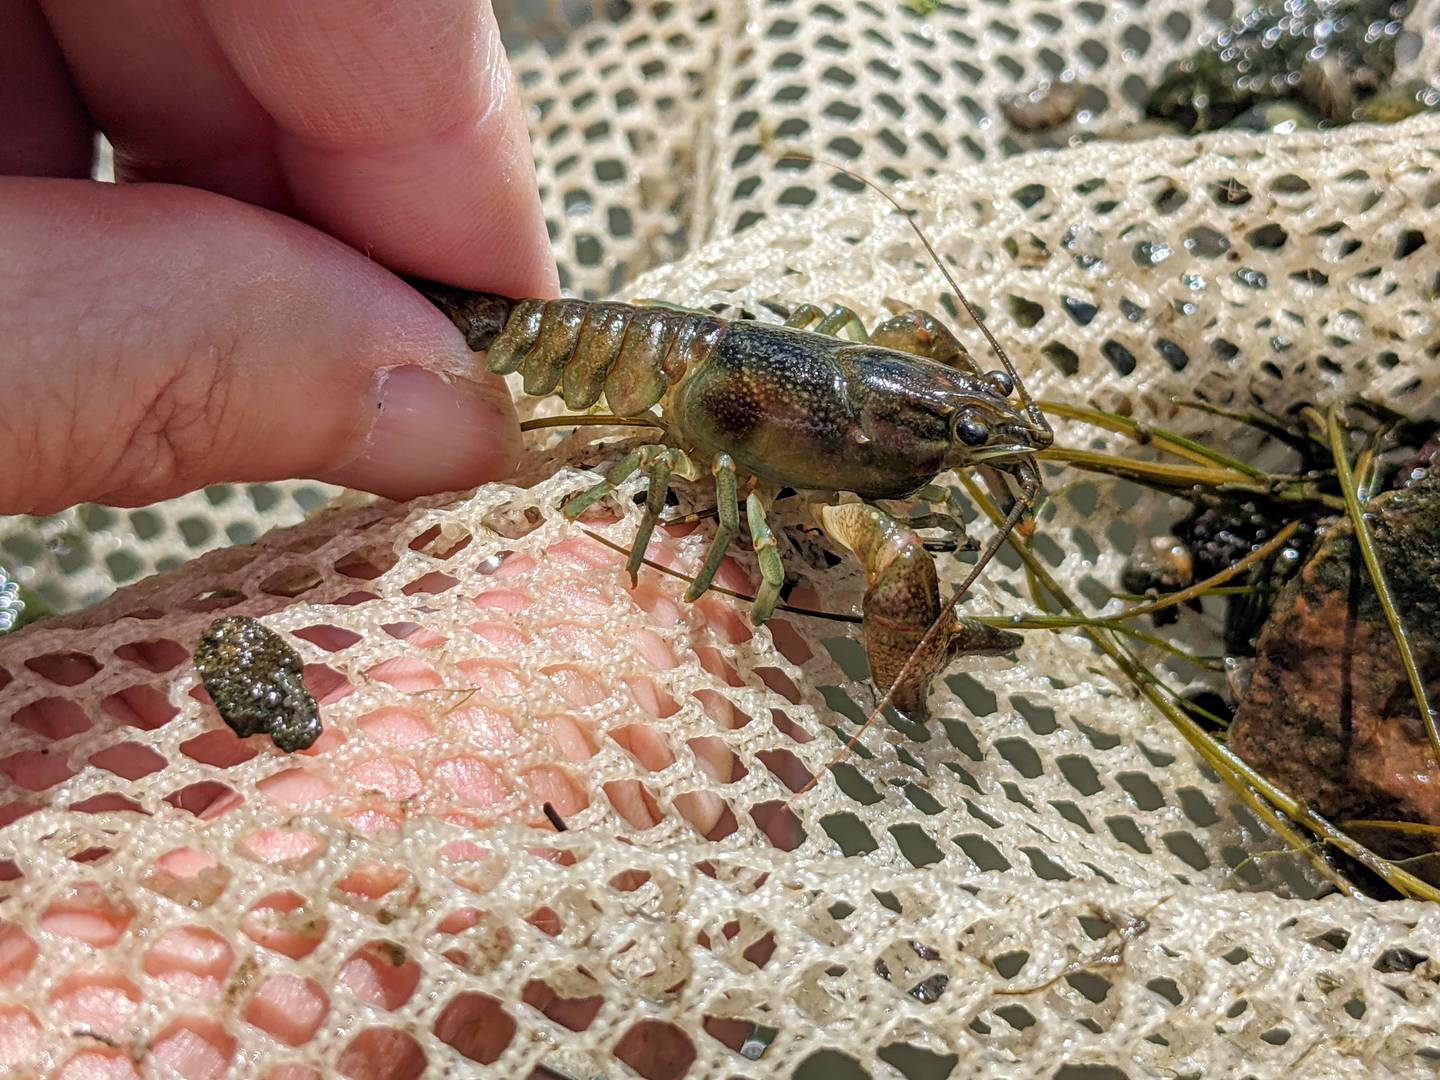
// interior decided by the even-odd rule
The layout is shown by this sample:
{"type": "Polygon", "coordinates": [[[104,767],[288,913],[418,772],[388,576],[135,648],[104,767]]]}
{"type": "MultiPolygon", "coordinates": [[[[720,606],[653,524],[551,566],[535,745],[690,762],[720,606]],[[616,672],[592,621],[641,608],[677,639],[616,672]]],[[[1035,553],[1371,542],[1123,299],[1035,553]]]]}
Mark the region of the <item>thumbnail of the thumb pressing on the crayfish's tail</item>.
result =
{"type": "Polygon", "coordinates": [[[520,431],[498,380],[396,367],[380,373],[376,413],[360,454],[318,480],[413,498],[472,488],[516,467],[520,431]]]}

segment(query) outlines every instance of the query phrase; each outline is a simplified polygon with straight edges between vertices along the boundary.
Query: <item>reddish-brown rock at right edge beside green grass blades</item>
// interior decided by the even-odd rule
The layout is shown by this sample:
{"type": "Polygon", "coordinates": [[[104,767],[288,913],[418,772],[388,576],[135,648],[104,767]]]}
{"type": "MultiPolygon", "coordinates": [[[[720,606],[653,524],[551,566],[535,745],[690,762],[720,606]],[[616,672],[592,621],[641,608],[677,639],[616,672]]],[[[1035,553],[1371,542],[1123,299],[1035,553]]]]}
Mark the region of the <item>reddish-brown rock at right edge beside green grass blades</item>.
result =
{"type": "MultiPolygon", "coordinates": [[[[1440,694],[1440,474],[1367,507],[1430,700],[1440,694]]],[[[1440,825],[1440,763],[1348,520],[1276,600],[1230,746],[1332,821],[1440,825]]],[[[1440,844],[1390,829],[1356,838],[1391,858],[1440,844]]],[[[1440,858],[1416,873],[1440,881],[1440,858]]]]}

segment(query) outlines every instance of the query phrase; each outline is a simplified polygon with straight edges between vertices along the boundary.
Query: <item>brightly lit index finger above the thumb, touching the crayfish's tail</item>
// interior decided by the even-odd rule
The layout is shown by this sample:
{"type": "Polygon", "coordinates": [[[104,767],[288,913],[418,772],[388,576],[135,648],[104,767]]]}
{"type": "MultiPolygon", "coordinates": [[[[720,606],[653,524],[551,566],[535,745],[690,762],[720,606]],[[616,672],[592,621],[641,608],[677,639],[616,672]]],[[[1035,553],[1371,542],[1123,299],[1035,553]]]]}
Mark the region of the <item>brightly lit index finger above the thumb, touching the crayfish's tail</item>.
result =
{"type": "Polygon", "coordinates": [[[200,10],[275,120],[276,160],[310,220],[400,271],[554,292],[530,140],[488,4],[200,10]]]}

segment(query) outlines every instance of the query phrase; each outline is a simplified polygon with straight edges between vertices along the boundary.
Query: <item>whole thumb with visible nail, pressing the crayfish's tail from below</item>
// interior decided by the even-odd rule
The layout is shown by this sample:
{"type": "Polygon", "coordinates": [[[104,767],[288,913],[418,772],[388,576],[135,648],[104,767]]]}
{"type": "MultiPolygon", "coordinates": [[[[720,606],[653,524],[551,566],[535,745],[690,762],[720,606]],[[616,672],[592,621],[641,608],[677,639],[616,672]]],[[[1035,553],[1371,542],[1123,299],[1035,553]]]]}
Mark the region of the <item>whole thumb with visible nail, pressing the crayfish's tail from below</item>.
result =
{"type": "Polygon", "coordinates": [[[444,315],[223,196],[0,179],[0,514],[294,477],[405,498],[518,454],[444,315]]]}

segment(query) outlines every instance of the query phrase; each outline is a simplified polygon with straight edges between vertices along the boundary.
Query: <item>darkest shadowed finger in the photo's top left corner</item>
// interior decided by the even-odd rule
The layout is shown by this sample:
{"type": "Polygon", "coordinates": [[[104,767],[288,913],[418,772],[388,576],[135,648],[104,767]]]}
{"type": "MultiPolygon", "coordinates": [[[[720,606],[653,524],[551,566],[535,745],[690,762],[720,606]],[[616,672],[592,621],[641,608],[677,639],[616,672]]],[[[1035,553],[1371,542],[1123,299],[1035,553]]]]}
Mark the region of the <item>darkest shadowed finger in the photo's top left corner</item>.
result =
{"type": "Polygon", "coordinates": [[[0,176],[89,176],[94,132],[30,0],[0,4],[0,176]]]}

